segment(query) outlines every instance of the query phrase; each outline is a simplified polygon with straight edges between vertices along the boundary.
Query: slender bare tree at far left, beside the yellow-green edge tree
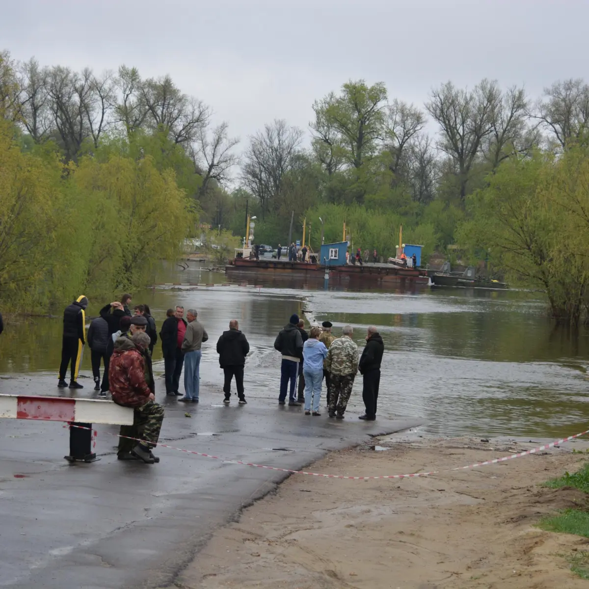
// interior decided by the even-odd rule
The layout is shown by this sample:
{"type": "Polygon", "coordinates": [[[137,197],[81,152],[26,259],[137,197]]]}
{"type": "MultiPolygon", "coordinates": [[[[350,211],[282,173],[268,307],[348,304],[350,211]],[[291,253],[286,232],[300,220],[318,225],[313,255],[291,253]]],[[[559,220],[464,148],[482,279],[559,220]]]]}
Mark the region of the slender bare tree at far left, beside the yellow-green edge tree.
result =
{"type": "Polygon", "coordinates": [[[45,140],[51,133],[47,76],[47,68],[39,67],[35,58],[25,61],[19,67],[21,120],[37,143],[45,140]]]}

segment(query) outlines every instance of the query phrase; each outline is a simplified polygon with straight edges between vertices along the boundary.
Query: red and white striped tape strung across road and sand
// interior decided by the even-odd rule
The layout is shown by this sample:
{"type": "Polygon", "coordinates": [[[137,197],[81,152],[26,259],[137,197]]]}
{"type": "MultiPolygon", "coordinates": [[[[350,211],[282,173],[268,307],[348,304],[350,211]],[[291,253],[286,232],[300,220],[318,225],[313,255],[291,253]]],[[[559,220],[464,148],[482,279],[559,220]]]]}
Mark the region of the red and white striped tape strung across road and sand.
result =
{"type": "MultiPolygon", "coordinates": [[[[90,429],[84,428],[79,425],[74,425],[73,423],[70,424],[72,428],[80,428],[80,429],[90,429]]],[[[64,427],[68,427],[64,425],[64,427]]],[[[131,438],[130,436],[121,436],[119,434],[112,434],[111,432],[107,432],[110,435],[116,436],[117,438],[127,438],[130,440],[134,440],[135,442],[144,442],[148,444],[145,440],[139,438],[131,438]]],[[[503,456],[502,458],[494,458],[492,460],[485,460],[484,462],[476,462],[475,464],[469,464],[468,466],[458,466],[456,468],[446,468],[441,471],[429,471],[429,472],[414,472],[413,474],[409,475],[380,475],[379,477],[347,477],[345,475],[326,475],[320,472],[308,472],[308,471],[294,471],[290,468],[278,468],[277,466],[267,466],[264,464],[255,464],[254,462],[244,462],[241,460],[228,460],[226,458],[221,458],[220,456],[213,456],[211,454],[204,454],[203,452],[196,452],[194,450],[187,450],[185,448],[176,448],[176,446],[168,446],[167,444],[159,444],[158,446],[162,446],[163,448],[170,448],[171,450],[178,450],[180,452],[186,452],[187,454],[196,454],[197,456],[203,456],[204,458],[212,458],[214,460],[220,460],[223,462],[227,462],[227,464],[241,464],[244,466],[255,466],[256,468],[266,468],[270,471],[280,471],[280,472],[290,472],[290,474],[296,475],[311,475],[312,477],[325,477],[325,478],[339,478],[339,479],[351,479],[352,481],[368,481],[371,479],[397,479],[397,478],[412,478],[412,477],[428,477],[428,475],[436,475],[442,472],[452,472],[452,471],[464,471],[469,468],[477,468],[478,466],[486,466],[488,464],[497,464],[498,462],[505,462],[506,460],[512,460],[514,458],[521,458],[521,456],[527,456],[529,454],[535,454],[536,452],[541,452],[542,450],[547,450],[548,448],[554,448],[554,446],[558,446],[560,444],[564,444],[565,442],[570,442],[572,439],[580,438],[580,436],[584,436],[585,434],[589,433],[589,429],[581,432],[580,434],[575,434],[574,436],[568,436],[568,438],[562,438],[560,440],[555,440],[554,442],[550,442],[550,444],[544,444],[543,446],[538,446],[538,448],[532,448],[531,450],[526,450],[524,452],[519,452],[518,454],[512,454],[510,456],[503,456]]]]}

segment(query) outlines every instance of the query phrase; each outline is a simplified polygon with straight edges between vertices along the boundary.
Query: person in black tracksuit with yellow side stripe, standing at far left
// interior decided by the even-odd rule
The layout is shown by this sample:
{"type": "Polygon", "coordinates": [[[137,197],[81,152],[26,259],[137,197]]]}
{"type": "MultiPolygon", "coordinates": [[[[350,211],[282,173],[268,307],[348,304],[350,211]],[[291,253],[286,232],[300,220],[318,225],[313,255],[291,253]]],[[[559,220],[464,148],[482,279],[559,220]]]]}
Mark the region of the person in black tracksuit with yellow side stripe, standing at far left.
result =
{"type": "Polygon", "coordinates": [[[84,310],[88,306],[88,299],[81,294],[71,305],[64,310],[64,335],[61,342],[61,365],[59,366],[59,382],[57,386],[68,386],[65,375],[68,364],[71,363],[70,389],[83,389],[77,382],[78,370],[82,361],[82,350],[86,343],[84,310]]]}

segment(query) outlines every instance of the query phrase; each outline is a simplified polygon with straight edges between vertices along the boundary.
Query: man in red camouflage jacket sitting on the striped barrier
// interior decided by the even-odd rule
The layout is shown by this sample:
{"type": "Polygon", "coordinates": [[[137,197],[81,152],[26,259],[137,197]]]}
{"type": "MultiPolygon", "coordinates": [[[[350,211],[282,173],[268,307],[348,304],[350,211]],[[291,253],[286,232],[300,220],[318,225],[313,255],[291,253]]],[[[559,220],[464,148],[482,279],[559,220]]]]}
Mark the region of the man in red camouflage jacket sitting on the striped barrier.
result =
{"type": "MultiPolygon", "coordinates": [[[[120,438],[117,456],[120,460],[143,460],[145,464],[159,462],[151,449],[157,445],[160,437],[161,423],[164,421],[164,408],[155,403],[155,396],[150,391],[145,379],[145,360],[139,348],[148,348],[150,337],[140,332],[133,340],[120,337],[114,345],[114,352],[108,367],[108,382],[112,401],[117,405],[135,409],[133,432],[142,441],[127,452],[127,438],[120,438]]],[[[121,427],[121,436],[128,436],[129,426],[121,427]]]]}

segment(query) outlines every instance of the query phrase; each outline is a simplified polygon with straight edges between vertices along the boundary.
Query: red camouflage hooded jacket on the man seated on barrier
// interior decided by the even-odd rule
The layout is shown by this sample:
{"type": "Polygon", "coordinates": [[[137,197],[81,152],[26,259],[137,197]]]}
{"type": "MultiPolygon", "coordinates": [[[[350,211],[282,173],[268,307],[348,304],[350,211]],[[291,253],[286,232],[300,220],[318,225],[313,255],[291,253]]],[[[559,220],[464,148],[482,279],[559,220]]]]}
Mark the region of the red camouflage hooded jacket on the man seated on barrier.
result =
{"type": "Polygon", "coordinates": [[[149,401],[150,389],[145,381],[145,361],[127,337],[119,337],[108,365],[108,384],[112,401],[125,407],[142,407],[149,401]]]}

